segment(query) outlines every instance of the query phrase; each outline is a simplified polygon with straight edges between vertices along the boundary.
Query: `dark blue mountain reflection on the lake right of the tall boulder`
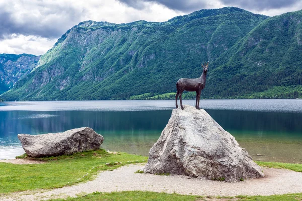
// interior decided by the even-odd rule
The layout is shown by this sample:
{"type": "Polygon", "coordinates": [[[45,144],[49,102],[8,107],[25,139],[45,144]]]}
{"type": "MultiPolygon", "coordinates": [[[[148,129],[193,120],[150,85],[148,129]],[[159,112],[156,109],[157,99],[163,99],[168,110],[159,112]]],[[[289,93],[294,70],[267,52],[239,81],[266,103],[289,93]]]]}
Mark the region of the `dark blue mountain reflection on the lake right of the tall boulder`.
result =
{"type": "Polygon", "coordinates": [[[301,113],[220,110],[207,112],[225,130],[237,137],[248,137],[250,133],[253,137],[263,139],[302,140],[301,113]]]}

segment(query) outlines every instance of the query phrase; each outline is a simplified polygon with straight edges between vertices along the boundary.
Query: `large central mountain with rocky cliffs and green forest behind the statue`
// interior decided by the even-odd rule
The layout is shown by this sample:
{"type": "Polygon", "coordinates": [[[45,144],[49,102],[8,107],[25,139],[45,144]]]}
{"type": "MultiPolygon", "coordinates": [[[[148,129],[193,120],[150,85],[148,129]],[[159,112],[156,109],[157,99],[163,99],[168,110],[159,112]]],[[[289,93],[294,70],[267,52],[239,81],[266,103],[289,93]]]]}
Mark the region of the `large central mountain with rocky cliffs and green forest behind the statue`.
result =
{"type": "Polygon", "coordinates": [[[106,100],[174,92],[179,78],[199,77],[202,62],[214,63],[267,18],[225,7],[162,23],[81,22],[1,98],[106,100]]]}

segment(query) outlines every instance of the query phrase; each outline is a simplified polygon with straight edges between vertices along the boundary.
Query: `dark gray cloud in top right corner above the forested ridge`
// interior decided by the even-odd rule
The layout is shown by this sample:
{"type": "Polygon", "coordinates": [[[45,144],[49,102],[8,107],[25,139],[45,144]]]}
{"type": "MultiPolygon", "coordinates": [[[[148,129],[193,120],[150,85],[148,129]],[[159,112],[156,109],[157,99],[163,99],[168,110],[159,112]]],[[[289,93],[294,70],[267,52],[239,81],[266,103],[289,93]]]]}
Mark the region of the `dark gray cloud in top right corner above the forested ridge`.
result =
{"type": "Polygon", "coordinates": [[[243,9],[249,10],[268,10],[280,9],[292,6],[300,0],[220,0],[222,3],[230,6],[238,6],[243,9]]]}

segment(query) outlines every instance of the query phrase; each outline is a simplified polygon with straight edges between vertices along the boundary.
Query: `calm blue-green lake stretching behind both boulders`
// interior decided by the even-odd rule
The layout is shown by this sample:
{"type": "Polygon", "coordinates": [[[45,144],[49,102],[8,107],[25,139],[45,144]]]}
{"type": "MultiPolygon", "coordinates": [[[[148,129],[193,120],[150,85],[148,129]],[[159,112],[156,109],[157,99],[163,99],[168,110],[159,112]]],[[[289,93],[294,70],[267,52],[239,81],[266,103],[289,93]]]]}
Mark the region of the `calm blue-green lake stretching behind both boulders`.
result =
{"type": "MultiPolygon", "coordinates": [[[[184,103],[195,105],[194,100],[184,103]]],[[[0,102],[0,159],[24,153],[19,133],[84,126],[104,136],[106,150],[147,156],[174,104],[173,100],[0,102]]],[[[200,106],[254,160],[302,163],[302,100],[201,100],[200,106]]]]}

